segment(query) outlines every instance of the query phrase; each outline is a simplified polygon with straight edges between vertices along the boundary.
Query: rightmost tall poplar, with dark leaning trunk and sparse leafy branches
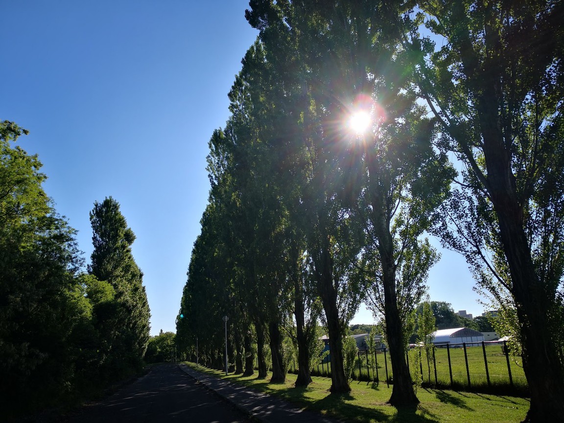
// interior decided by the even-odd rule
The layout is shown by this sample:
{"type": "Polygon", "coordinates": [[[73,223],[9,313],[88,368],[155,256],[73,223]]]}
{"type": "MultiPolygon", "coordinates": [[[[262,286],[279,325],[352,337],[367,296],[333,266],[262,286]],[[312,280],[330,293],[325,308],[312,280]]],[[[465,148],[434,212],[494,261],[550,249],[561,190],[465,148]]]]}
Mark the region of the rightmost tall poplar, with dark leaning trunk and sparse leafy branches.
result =
{"type": "MultiPolygon", "coordinates": [[[[416,2],[406,48],[443,146],[463,164],[442,231],[478,283],[510,293],[531,392],[527,420],[564,421],[564,3],[416,2]],[[418,33],[420,25],[440,39],[418,33]],[[470,219],[469,219],[470,217],[470,219]],[[452,226],[452,225],[451,225],[452,226]],[[443,229],[446,229],[446,225],[443,229]],[[491,252],[492,261],[486,258],[491,252]]],[[[398,30],[402,33],[403,30],[398,30]]]]}

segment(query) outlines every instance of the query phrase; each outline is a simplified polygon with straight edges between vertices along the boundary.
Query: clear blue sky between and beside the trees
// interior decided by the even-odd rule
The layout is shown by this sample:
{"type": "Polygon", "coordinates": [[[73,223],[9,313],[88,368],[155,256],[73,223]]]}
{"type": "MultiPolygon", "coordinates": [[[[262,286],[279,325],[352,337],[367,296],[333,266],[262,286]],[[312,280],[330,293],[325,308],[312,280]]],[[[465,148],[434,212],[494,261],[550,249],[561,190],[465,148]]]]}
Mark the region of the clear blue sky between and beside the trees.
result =
{"type": "MultiPolygon", "coordinates": [[[[208,140],[258,33],[248,0],[0,0],[0,119],[30,130],[45,190],[78,230],[112,196],[137,239],[151,333],[175,331],[192,244],[208,199],[208,140]]],[[[466,263],[443,252],[431,299],[481,314],[466,263]]],[[[372,323],[361,310],[353,323],[372,323]]]]}

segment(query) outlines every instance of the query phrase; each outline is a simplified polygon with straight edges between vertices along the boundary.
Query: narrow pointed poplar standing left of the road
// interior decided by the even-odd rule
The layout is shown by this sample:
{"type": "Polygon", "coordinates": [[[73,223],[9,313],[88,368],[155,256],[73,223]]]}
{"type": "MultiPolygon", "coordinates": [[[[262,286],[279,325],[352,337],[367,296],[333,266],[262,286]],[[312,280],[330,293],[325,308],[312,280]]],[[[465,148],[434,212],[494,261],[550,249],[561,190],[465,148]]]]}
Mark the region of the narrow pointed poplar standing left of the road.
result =
{"type": "Polygon", "coordinates": [[[120,204],[112,197],[94,202],[90,212],[92,244],[89,273],[108,281],[116,292],[120,319],[111,340],[111,371],[123,374],[142,363],[149,341],[149,303],[143,272],[131,253],[135,234],[127,227],[120,204]]]}

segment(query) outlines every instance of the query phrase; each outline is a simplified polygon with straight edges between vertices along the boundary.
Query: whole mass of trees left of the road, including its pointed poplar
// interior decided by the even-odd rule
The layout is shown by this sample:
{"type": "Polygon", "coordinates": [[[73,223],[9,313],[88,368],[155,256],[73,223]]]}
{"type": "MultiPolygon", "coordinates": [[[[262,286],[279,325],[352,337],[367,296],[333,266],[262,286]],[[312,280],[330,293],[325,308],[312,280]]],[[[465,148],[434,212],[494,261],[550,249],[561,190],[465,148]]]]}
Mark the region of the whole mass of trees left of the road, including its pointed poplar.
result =
{"type": "Polygon", "coordinates": [[[111,197],[90,213],[87,272],[76,231],[43,191],[26,130],[0,122],[0,398],[4,416],[96,395],[134,374],[149,338],[135,235],[111,197]]]}

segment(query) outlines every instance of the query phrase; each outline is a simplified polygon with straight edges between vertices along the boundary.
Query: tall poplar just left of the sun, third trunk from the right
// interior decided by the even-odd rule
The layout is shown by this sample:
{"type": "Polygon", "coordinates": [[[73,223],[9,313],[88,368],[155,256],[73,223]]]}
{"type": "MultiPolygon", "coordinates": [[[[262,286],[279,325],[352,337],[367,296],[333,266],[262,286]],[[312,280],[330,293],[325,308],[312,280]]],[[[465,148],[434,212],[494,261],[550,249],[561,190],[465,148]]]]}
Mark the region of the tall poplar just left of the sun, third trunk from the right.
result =
{"type": "Polygon", "coordinates": [[[278,155],[274,170],[283,175],[281,200],[290,222],[303,233],[311,259],[311,275],[324,310],[321,318],[329,334],[331,391],[348,392],[342,339],[362,300],[359,280],[352,271],[362,231],[346,196],[350,158],[346,143],[335,130],[338,113],[328,103],[332,97],[325,91],[335,81],[329,82],[331,76],[324,74],[323,68],[328,72],[333,68],[324,67],[324,58],[309,56],[309,43],[317,40],[299,35],[301,29],[304,34],[317,29],[309,21],[309,10],[300,5],[294,11],[288,2],[257,1],[250,6],[246,17],[261,30],[261,48],[270,64],[269,72],[275,75],[266,92],[275,97],[276,113],[271,122],[276,131],[266,139],[278,155]]]}

